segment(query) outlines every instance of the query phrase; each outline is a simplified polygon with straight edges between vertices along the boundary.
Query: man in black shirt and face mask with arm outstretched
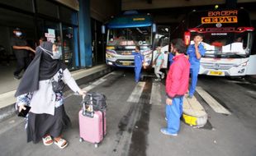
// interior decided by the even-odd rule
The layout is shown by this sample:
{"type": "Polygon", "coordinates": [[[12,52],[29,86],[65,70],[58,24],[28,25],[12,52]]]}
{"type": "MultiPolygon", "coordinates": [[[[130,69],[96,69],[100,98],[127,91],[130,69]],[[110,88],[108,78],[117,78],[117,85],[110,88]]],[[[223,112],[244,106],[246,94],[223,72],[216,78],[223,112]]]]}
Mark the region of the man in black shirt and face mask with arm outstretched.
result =
{"type": "Polygon", "coordinates": [[[22,32],[19,28],[14,29],[13,31],[13,38],[11,40],[11,46],[13,48],[14,54],[17,58],[17,68],[16,71],[14,71],[14,78],[20,79],[21,76],[20,73],[22,70],[26,70],[26,67],[29,65],[29,53],[28,50],[36,53],[36,51],[28,47],[26,44],[26,39],[23,39],[21,37],[22,32]]]}

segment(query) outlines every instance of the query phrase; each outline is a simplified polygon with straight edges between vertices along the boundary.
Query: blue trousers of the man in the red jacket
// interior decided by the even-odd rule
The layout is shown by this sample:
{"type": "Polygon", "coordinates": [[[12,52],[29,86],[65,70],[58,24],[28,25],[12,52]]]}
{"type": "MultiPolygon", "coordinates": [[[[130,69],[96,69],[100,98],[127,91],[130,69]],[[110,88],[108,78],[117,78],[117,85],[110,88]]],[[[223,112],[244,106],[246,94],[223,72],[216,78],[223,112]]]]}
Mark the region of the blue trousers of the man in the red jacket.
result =
{"type": "Polygon", "coordinates": [[[166,104],[167,131],[177,134],[180,127],[180,117],[183,115],[183,97],[173,98],[173,104],[166,104]]]}

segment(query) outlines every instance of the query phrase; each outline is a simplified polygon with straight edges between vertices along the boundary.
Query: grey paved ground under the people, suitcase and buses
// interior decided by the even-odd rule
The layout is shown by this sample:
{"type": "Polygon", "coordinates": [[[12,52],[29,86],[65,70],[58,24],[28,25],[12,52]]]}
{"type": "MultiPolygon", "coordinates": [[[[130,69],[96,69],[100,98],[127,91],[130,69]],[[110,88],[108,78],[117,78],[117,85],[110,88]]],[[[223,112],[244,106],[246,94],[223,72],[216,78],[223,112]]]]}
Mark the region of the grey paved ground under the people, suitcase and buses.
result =
{"type": "MultiPolygon", "coordinates": [[[[72,127],[64,131],[69,140],[66,149],[56,145],[45,146],[26,143],[22,118],[12,117],[0,122],[0,151],[5,156],[28,155],[107,155],[107,156],[254,156],[255,134],[255,84],[245,80],[227,80],[223,77],[200,76],[198,86],[211,93],[231,115],[215,112],[196,94],[198,101],[209,115],[209,125],[193,128],[181,122],[177,137],[160,133],[166,126],[164,120],[164,80],[155,82],[146,77],[138,103],[127,102],[136,87],[134,73],[117,72],[81,85],[107,96],[107,135],[97,149],[86,141],[79,142],[78,111],[81,98],[65,93],[65,108],[72,127]],[[160,85],[161,102],[149,104],[154,83],[160,85]],[[93,86],[93,87],[92,87],[93,86]]],[[[1,155],[0,154],[0,155],[1,155]]]]}

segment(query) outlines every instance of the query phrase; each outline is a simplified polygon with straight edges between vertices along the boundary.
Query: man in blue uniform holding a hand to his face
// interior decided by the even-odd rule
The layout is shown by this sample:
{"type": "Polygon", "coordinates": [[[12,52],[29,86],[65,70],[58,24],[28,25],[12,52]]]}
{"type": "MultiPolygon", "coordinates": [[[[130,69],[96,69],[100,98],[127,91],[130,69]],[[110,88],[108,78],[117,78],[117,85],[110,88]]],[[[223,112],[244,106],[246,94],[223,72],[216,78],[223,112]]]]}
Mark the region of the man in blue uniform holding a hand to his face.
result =
{"type": "Polygon", "coordinates": [[[190,74],[192,78],[188,98],[192,98],[193,94],[195,93],[197,86],[197,76],[200,69],[200,59],[201,56],[206,53],[206,49],[201,44],[202,35],[196,34],[193,40],[194,44],[189,45],[187,48],[187,56],[191,64],[190,74]]]}

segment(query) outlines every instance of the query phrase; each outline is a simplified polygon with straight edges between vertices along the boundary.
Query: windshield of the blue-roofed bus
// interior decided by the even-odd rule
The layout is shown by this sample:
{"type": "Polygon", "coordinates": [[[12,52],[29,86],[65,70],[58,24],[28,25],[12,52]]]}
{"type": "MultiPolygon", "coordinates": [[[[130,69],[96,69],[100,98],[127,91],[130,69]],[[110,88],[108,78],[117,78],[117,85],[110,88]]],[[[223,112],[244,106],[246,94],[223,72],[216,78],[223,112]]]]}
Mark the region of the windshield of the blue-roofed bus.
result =
{"type": "Polygon", "coordinates": [[[110,29],[107,35],[107,45],[150,45],[152,44],[151,27],[136,27],[110,29]]]}

